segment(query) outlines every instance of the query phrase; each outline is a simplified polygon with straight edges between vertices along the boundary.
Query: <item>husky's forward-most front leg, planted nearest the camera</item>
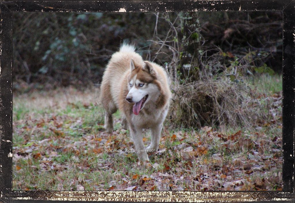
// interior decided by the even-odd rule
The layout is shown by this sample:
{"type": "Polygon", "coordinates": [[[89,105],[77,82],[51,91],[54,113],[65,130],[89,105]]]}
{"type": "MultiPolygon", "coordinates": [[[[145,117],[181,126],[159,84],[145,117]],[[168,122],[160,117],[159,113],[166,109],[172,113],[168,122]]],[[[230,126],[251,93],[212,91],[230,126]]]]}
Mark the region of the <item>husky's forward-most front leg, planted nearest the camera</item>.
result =
{"type": "Polygon", "coordinates": [[[132,129],[130,127],[130,134],[134,143],[135,152],[138,155],[140,161],[150,161],[148,153],[145,152],[145,145],[142,140],[142,129],[132,129]]]}

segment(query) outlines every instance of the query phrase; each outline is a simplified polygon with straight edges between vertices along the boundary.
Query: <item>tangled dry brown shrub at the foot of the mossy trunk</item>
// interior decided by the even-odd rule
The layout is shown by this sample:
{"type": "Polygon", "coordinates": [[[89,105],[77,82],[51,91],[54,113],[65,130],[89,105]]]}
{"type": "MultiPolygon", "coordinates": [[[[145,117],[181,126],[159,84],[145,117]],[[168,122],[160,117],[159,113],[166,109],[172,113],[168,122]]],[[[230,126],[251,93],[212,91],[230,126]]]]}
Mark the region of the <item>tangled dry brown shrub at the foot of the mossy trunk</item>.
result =
{"type": "Polygon", "coordinates": [[[267,101],[246,84],[207,79],[172,88],[170,122],[181,127],[250,127],[267,119],[267,101]]]}

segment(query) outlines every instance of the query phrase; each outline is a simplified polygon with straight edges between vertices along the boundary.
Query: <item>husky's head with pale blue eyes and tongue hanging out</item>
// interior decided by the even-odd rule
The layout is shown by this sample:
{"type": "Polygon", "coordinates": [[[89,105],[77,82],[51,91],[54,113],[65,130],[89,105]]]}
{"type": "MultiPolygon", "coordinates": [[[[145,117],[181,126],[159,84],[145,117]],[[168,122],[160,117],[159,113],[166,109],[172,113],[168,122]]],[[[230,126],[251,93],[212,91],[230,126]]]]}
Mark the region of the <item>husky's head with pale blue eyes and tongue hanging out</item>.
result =
{"type": "Polygon", "coordinates": [[[135,64],[130,61],[130,74],[128,76],[128,89],[126,100],[129,103],[135,103],[133,113],[139,114],[148,102],[155,101],[159,95],[159,82],[157,81],[157,73],[153,68],[153,64],[144,61],[144,64],[135,64]]]}

